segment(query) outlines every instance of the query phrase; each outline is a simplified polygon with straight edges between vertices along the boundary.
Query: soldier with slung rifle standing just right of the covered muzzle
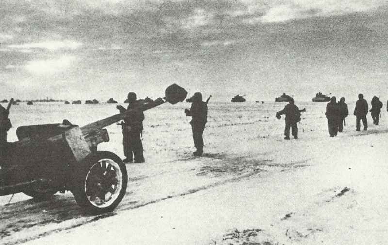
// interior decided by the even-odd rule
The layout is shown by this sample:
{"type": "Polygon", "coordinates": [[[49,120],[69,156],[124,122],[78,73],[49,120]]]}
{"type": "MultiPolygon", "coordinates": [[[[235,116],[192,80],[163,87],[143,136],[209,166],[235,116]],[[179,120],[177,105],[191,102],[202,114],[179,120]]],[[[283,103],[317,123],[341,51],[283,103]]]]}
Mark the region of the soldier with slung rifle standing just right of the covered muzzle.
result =
{"type": "Polygon", "coordinates": [[[203,131],[208,117],[208,105],[202,101],[202,94],[196,92],[193,97],[190,110],[185,109],[186,116],[191,116],[191,129],[193,132],[194,146],[197,149],[194,156],[201,156],[203,153],[203,131]]]}

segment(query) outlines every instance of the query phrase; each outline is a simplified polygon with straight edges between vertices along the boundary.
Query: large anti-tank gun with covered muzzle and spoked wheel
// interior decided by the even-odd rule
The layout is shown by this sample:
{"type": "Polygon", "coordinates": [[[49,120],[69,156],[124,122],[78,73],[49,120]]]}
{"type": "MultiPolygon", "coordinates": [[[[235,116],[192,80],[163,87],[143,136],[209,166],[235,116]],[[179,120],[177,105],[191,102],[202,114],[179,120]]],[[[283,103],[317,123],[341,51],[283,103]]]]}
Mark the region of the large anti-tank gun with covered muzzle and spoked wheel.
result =
{"type": "Polygon", "coordinates": [[[182,102],[186,95],[186,90],[173,84],[163,98],[82,127],[67,120],[19,127],[19,141],[5,146],[0,161],[0,196],[24,192],[47,199],[69,190],[86,212],[112,211],[124,197],[128,178],[116,154],[97,151],[99,143],[109,141],[104,128],[136,111],[182,102]]]}

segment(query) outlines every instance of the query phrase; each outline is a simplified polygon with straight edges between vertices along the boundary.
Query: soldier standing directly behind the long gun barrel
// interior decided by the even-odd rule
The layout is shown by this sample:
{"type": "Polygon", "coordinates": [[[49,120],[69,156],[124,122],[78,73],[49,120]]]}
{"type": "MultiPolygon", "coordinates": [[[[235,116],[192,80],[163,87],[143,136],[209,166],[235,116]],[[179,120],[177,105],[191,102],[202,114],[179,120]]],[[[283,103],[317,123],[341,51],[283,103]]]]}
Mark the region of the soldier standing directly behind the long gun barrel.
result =
{"type": "MultiPolygon", "coordinates": [[[[129,102],[127,110],[138,108],[142,105],[142,103],[136,100],[136,94],[134,92],[129,92],[127,99],[129,102]]],[[[117,109],[120,110],[120,113],[126,111],[126,109],[121,105],[118,105],[117,109]]],[[[143,111],[136,110],[129,114],[128,117],[124,119],[124,123],[121,125],[123,129],[124,155],[126,157],[123,162],[125,163],[131,163],[133,158],[134,163],[144,163],[143,145],[140,138],[143,131],[143,120],[143,111]]]]}

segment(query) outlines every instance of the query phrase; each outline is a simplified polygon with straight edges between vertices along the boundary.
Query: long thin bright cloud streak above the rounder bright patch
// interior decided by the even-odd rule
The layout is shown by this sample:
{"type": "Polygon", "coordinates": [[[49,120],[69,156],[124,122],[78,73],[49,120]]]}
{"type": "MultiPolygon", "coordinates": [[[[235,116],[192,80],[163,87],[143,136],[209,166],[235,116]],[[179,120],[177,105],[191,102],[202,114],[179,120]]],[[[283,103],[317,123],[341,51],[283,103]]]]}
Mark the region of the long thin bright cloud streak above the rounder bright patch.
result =
{"type": "Polygon", "coordinates": [[[36,43],[11,44],[9,48],[14,49],[48,49],[56,51],[58,49],[77,49],[82,45],[80,42],[64,40],[64,41],[46,41],[36,43]]]}

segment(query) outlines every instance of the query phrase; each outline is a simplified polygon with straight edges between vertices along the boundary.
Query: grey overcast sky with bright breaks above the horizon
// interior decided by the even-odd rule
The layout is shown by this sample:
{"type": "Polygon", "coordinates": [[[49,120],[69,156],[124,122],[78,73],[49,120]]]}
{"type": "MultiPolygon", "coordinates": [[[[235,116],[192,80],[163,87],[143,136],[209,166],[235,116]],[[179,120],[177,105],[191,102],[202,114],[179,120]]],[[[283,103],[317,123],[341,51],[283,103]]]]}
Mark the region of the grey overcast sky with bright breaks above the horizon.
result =
{"type": "Polygon", "coordinates": [[[1,0],[0,99],[387,98],[387,40],[387,0],[1,0]]]}

